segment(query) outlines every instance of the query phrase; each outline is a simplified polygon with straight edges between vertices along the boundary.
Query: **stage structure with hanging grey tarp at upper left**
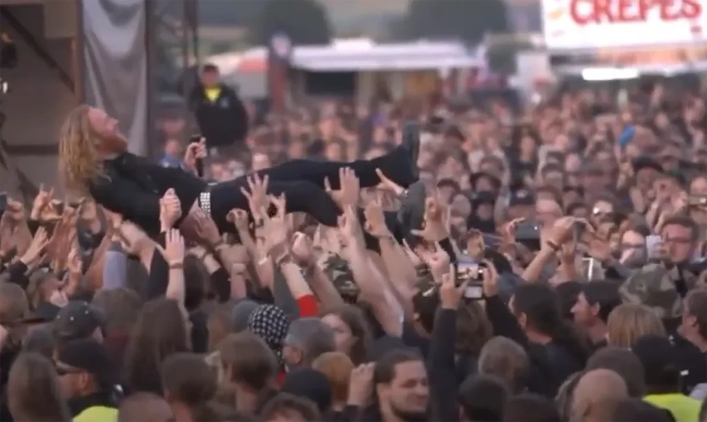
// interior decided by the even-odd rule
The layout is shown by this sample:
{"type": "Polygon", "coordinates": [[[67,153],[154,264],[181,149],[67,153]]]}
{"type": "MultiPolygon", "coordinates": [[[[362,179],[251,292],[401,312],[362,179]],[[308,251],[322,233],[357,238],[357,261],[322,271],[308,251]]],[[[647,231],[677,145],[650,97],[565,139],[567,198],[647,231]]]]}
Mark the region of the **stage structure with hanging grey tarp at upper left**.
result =
{"type": "Polygon", "coordinates": [[[17,52],[16,66],[0,66],[0,83],[8,86],[0,97],[0,190],[30,199],[40,182],[59,187],[59,127],[84,102],[119,119],[131,151],[156,154],[158,98],[182,95],[180,78],[169,76],[181,76],[198,57],[194,5],[0,0],[0,39],[11,39],[17,52]]]}

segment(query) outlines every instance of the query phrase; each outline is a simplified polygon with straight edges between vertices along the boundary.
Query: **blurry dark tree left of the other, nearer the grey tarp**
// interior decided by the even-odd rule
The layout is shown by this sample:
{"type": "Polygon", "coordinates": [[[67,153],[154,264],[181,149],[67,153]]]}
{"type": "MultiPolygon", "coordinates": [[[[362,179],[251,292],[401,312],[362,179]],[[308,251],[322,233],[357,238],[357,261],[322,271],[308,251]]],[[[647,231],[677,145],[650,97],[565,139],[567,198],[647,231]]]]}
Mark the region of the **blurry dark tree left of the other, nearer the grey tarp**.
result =
{"type": "Polygon", "coordinates": [[[256,45],[268,45],[275,33],[285,33],[293,45],[329,44],[332,29],[326,9],[315,0],[269,0],[250,27],[256,45]]]}

